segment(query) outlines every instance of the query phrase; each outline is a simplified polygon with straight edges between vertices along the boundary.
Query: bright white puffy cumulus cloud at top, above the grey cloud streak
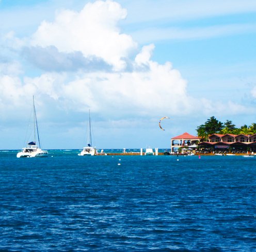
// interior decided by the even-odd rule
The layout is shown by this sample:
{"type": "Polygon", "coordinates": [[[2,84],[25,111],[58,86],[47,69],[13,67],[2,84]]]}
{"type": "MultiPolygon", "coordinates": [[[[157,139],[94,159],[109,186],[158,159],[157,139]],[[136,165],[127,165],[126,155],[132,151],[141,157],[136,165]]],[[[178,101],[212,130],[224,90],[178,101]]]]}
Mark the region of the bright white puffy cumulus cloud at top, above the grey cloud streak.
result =
{"type": "Polygon", "coordinates": [[[122,69],[126,67],[123,58],[137,48],[132,37],[117,26],[125,17],[126,10],[109,0],[88,3],[79,12],[62,10],[54,22],[41,23],[31,45],[55,46],[61,52],[81,51],[85,57],[102,58],[114,69],[122,69]]]}

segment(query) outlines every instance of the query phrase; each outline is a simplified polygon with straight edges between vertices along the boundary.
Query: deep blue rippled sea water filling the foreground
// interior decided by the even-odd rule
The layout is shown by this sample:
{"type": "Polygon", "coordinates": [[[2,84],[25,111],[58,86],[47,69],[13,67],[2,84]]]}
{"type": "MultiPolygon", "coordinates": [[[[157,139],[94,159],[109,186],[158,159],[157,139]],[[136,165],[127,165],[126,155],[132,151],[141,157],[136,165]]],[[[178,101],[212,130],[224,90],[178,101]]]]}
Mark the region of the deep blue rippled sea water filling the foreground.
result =
{"type": "Polygon", "coordinates": [[[16,153],[0,151],[0,251],[256,251],[256,157],[16,153]]]}

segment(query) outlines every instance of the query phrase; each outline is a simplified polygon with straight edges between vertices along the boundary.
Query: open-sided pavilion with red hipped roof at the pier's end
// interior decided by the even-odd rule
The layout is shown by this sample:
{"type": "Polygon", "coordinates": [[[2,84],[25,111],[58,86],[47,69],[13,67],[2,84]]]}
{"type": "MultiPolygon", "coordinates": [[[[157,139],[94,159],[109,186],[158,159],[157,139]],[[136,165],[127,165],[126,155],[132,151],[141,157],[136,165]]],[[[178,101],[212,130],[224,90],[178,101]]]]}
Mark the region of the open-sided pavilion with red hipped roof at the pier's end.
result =
{"type": "Polygon", "coordinates": [[[174,152],[175,149],[181,148],[196,148],[197,143],[200,141],[200,137],[193,136],[188,134],[187,132],[182,135],[175,136],[171,138],[171,153],[174,152]]]}

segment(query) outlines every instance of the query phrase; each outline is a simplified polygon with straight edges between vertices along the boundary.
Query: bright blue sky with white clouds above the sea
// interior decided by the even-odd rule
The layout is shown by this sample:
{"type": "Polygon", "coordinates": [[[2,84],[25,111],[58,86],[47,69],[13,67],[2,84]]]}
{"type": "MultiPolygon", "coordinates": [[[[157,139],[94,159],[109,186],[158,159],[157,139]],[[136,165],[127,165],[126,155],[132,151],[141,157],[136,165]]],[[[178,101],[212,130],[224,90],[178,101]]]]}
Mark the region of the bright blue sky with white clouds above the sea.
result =
{"type": "Polygon", "coordinates": [[[0,47],[2,150],[31,140],[33,96],[43,149],[86,146],[89,110],[98,149],[256,122],[255,1],[0,0],[0,47]]]}

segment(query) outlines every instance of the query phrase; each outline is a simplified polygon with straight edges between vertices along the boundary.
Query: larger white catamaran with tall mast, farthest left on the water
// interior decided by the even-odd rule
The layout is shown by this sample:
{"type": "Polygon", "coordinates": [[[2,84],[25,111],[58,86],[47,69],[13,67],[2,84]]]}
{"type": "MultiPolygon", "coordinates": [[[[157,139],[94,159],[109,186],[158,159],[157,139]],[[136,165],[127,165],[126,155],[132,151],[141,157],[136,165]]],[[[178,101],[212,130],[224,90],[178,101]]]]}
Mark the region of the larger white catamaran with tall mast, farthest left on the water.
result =
{"type": "Polygon", "coordinates": [[[47,157],[48,156],[48,152],[41,150],[41,146],[40,146],[40,138],[39,138],[39,132],[38,132],[34,96],[33,96],[33,110],[34,110],[34,141],[28,142],[27,147],[22,148],[22,151],[17,153],[17,157],[47,157]],[[37,132],[39,147],[36,145],[36,132],[37,132]]]}

